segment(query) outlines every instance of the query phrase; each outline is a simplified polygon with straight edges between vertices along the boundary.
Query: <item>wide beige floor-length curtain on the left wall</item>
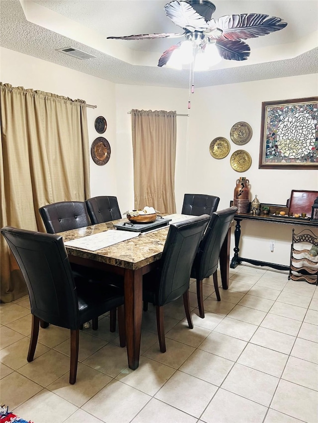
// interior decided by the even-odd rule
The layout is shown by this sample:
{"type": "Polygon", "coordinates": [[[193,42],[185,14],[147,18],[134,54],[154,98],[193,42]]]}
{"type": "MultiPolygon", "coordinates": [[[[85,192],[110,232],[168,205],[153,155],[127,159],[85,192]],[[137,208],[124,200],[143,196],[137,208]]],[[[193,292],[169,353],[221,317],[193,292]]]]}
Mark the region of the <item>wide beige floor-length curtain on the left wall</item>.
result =
{"type": "MultiPolygon", "coordinates": [[[[0,82],[0,128],[0,227],[45,232],[39,207],[89,198],[85,102],[0,82]]],[[[10,302],[27,291],[0,238],[0,299],[10,302]]]]}

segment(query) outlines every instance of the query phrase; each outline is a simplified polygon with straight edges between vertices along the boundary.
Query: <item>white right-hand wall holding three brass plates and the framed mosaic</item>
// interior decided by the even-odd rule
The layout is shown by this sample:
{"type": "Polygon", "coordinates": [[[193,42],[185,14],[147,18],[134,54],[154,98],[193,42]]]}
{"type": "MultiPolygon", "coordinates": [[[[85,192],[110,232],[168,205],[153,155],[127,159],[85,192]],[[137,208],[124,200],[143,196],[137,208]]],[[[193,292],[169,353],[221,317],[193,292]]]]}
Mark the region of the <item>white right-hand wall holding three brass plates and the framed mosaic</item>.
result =
{"type": "MultiPolygon", "coordinates": [[[[250,200],[257,195],[261,203],[286,204],[292,189],[318,190],[317,170],[258,169],[261,103],[313,96],[318,96],[317,74],[197,89],[191,108],[189,190],[218,195],[219,209],[229,206],[241,176],[250,182],[250,200]],[[230,138],[231,127],[239,121],[249,123],[253,130],[251,140],[243,146],[230,138]],[[229,155],[222,160],[209,153],[210,142],[217,136],[227,138],[231,145],[229,155]],[[250,169],[243,173],[230,165],[232,153],[239,149],[252,158],[250,169]]],[[[295,227],[296,232],[301,229],[295,227]]],[[[241,257],[289,265],[292,226],[245,221],[241,230],[241,257]],[[274,252],[270,252],[270,240],[276,241],[274,252]]]]}

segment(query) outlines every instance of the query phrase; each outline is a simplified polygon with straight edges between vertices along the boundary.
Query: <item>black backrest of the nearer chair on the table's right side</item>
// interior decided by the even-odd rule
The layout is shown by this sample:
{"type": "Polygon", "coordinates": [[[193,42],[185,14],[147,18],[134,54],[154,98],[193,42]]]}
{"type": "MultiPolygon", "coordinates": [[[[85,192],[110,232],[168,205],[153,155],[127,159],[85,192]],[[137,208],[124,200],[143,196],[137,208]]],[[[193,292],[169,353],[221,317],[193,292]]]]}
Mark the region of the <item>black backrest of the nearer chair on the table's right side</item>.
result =
{"type": "Polygon", "coordinates": [[[157,305],[176,300],[189,288],[193,260],[210,219],[204,214],[170,225],[160,262],[157,305]]]}

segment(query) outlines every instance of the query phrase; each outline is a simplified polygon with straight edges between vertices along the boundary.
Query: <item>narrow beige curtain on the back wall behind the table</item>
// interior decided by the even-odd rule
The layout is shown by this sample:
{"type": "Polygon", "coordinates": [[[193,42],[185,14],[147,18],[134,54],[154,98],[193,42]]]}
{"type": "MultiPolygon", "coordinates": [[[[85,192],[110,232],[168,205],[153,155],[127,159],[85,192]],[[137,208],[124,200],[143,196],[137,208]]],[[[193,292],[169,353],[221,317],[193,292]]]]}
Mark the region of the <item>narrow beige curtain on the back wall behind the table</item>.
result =
{"type": "Polygon", "coordinates": [[[135,208],[175,213],[176,112],[132,110],[135,208]]]}

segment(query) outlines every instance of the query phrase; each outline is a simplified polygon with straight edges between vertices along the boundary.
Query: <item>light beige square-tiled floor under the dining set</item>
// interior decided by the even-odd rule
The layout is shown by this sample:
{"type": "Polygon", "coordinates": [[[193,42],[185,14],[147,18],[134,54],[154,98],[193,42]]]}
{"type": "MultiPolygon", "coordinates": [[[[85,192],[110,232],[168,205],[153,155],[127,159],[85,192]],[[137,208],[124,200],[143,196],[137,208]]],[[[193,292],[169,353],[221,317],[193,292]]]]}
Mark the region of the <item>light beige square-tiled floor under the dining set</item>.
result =
{"type": "Polygon", "coordinates": [[[127,366],[108,316],[80,332],[79,368],[69,384],[70,334],[40,329],[27,363],[28,297],[0,304],[0,402],[34,423],[318,422],[318,288],[287,274],[239,265],[216,301],[204,284],[206,316],[194,329],[182,301],[165,307],[167,352],[156,313],[143,313],[140,366],[127,366]]]}

